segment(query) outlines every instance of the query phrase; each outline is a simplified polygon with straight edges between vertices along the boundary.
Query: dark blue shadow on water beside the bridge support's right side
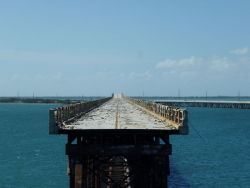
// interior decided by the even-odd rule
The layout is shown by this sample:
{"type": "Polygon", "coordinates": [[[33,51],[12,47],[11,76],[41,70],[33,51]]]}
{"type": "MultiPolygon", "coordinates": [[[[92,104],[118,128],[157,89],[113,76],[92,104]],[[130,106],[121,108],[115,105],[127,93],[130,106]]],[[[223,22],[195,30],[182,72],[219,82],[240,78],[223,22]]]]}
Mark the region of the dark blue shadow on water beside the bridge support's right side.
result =
{"type": "Polygon", "coordinates": [[[190,183],[182,176],[173,161],[170,162],[170,176],[168,177],[169,188],[190,188],[190,183]]]}

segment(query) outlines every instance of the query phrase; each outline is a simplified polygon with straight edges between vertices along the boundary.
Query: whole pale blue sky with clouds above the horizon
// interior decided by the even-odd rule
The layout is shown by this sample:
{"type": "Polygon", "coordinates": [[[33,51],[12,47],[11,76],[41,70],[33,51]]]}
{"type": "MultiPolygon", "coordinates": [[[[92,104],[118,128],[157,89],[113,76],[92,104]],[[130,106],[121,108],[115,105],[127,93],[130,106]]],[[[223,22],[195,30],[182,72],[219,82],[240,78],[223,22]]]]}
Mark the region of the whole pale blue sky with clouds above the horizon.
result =
{"type": "Polygon", "coordinates": [[[0,96],[250,96],[248,0],[0,1],[0,96]]]}

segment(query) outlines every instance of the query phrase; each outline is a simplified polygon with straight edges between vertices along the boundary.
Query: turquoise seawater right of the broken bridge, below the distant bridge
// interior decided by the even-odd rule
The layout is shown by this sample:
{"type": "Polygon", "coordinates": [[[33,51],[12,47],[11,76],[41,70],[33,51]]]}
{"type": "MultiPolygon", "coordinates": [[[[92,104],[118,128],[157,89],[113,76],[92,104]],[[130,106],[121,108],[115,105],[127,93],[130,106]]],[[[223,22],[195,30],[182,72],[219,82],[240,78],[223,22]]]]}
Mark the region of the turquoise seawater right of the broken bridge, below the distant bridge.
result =
{"type": "Polygon", "coordinates": [[[250,187],[250,110],[187,110],[190,134],[171,136],[170,187],[250,187]]]}

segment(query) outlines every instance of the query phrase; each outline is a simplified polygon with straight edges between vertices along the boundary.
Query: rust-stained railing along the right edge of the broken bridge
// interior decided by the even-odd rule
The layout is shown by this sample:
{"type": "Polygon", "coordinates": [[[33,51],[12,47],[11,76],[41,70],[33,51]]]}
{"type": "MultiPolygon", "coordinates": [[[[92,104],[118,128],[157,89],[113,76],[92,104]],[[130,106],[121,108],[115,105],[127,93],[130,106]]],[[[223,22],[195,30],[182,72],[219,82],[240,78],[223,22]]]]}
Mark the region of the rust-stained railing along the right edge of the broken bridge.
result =
{"type": "Polygon", "coordinates": [[[154,103],[152,101],[126,98],[128,101],[137,104],[154,114],[162,117],[163,120],[170,122],[173,126],[182,131],[182,134],[188,134],[188,113],[185,109],[174,108],[154,103]]]}

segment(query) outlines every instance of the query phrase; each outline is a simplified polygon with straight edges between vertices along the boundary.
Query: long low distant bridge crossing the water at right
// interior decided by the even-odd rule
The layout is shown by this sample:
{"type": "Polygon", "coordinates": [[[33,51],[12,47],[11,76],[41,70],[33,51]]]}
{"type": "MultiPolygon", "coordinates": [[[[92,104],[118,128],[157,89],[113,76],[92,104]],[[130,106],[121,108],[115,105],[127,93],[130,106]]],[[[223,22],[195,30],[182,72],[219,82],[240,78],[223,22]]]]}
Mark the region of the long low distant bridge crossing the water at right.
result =
{"type": "Polygon", "coordinates": [[[157,100],[155,103],[173,107],[200,108],[238,108],[250,109],[250,101],[189,101],[189,100],[157,100]]]}

